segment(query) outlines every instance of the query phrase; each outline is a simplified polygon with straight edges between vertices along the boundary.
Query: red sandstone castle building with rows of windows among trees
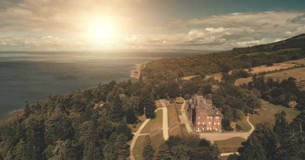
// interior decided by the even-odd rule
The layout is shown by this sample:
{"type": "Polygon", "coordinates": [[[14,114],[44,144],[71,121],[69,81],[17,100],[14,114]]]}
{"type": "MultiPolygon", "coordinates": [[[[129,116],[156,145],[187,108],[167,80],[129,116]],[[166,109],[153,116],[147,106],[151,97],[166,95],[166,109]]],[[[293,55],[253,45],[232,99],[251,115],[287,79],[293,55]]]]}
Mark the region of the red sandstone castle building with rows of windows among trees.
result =
{"type": "Polygon", "coordinates": [[[195,95],[189,100],[188,114],[194,124],[194,130],[221,132],[222,114],[212,104],[212,100],[195,95]]]}

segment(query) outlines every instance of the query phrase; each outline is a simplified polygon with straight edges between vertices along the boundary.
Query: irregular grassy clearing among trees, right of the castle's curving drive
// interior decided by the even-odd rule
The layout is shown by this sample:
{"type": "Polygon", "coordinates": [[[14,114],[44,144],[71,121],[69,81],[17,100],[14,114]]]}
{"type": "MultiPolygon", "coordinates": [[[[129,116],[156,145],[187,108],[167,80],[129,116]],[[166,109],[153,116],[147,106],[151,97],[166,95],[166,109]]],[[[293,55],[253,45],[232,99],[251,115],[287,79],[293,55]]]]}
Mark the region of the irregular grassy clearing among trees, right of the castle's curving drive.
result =
{"type": "Polygon", "coordinates": [[[294,110],[292,108],[287,108],[282,105],[275,105],[272,103],[269,103],[268,101],[261,100],[263,107],[258,111],[258,114],[252,114],[250,115],[250,122],[255,126],[259,122],[270,122],[271,124],[274,124],[275,118],[274,114],[275,112],[284,110],[286,112],[286,119],[290,122],[296,115],[300,112],[298,110],[294,110]],[[266,107],[272,109],[267,109],[266,107]]]}

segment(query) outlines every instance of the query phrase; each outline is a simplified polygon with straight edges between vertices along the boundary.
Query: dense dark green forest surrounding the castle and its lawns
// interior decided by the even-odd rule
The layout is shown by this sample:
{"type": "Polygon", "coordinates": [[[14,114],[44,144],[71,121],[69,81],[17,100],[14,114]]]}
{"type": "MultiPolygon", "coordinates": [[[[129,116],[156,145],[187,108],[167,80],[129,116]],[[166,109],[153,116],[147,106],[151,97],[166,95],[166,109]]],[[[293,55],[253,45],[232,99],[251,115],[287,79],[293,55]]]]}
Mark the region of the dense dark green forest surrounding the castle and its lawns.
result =
{"type": "MultiPolygon", "coordinates": [[[[126,159],[130,153],[128,141],[133,136],[127,124],[137,123],[137,116],[142,114],[154,118],[155,99],[160,98],[204,95],[221,108],[226,130],[233,129],[230,122],[255,113],[261,107],[259,98],[303,110],[305,94],[295,87],[293,78],[279,82],[253,75],[253,82],[247,85],[233,84],[236,77],[251,76],[242,68],[305,57],[305,38],[297,37],[221,53],[157,59],[147,63],[137,81],[111,81],[66,95],[50,95],[34,104],[26,102],[23,115],[0,123],[0,159],[126,159]],[[286,49],[292,47],[300,49],[286,49]],[[262,51],[276,53],[248,54],[262,51]],[[207,74],[219,72],[222,81],[205,79],[207,74]],[[199,76],[183,79],[186,75],[199,76]]],[[[300,130],[305,128],[305,112],[291,123],[284,112],[275,117],[274,126],[257,125],[242,143],[240,155],[229,158],[305,157],[305,134],[300,130]]],[[[149,138],[145,139],[145,148],[153,152],[149,138]]],[[[219,159],[220,154],[216,145],[196,135],[171,136],[154,152],[146,159],[219,159]]]]}

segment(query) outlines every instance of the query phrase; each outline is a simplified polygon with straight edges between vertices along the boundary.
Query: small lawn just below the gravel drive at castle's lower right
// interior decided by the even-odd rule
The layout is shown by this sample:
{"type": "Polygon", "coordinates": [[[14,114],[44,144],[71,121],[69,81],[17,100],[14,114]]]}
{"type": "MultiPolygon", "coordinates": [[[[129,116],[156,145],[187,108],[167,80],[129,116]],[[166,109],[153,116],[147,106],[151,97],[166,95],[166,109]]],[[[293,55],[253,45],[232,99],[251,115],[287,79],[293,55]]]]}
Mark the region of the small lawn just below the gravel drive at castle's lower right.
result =
{"type": "Polygon", "coordinates": [[[241,142],[246,141],[242,137],[233,137],[226,140],[217,140],[215,143],[222,153],[237,152],[237,149],[241,146],[241,142]]]}

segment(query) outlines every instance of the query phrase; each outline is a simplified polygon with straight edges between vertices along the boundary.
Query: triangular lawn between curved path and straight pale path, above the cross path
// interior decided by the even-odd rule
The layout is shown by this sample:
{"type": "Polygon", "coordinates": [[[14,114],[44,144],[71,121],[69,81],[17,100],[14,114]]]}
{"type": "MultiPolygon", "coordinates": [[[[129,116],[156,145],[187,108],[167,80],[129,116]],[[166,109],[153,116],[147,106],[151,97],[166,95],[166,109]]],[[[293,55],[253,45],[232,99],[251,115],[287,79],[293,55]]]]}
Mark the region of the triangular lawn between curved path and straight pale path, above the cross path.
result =
{"type": "Polygon", "coordinates": [[[156,112],[157,115],[156,118],[150,119],[148,123],[144,126],[144,128],[141,130],[141,133],[148,133],[153,130],[162,128],[162,114],[163,114],[163,110],[159,109],[156,112]]]}

